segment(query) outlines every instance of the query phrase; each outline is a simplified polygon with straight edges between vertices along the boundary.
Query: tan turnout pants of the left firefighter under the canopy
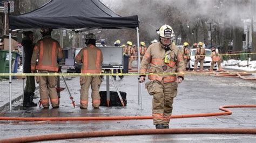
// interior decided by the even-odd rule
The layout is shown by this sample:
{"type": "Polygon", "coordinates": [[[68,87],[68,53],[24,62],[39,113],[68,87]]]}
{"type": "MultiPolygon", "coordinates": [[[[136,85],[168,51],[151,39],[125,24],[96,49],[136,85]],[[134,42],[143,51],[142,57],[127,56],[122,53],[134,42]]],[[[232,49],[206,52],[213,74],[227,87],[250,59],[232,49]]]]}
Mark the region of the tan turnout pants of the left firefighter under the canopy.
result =
{"type": "MultiPolygon", "coordinates": [[[[52,71],[41,71],[38,73],[55,73],[52,71]]],[[[38,76],[40,98],[43,107],[49,107],[49,97],[52,107],[59,106],[59,98],[55,86],[57,85],[57,76],[38,76]]]]}

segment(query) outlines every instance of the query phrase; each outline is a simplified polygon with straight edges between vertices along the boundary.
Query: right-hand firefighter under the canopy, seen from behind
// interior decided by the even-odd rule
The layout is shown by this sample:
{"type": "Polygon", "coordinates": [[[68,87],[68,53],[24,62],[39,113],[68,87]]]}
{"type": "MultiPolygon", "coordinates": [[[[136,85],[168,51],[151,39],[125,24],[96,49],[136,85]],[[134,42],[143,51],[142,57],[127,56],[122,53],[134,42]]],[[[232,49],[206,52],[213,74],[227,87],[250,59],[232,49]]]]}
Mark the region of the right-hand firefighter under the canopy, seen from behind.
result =
{"type": "MultiPolygon", "coordinates": [[[[76,62],[82,63],[81,73],[101,73],[103,54],[102,50],[96,47],[96,36],[93,33],[86,35],[84,47],[76,56],[76,62]]],[[[80,108],[86,109],[88,107],[88,92],[89,87],[92,89],[92,106],[99,108],[100,96],[99,86],[102,83],[100,76],[81,76],[80,77],[80,108]]]]}

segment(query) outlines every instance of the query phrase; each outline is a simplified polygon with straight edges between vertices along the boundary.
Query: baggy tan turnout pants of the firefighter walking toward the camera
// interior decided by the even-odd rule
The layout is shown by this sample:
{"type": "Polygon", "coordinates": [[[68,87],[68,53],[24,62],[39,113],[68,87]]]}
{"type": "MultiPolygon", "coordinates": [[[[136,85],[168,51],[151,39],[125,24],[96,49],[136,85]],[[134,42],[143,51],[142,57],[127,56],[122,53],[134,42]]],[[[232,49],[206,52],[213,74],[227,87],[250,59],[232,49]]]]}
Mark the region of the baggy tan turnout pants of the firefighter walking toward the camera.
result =
{"type": "Polygon", "coordinates": [[[153,96],[152,116],[154,125],[169,124],[172,115],[173,98],[177,96],[178,84],[151,80],[146,83],[147,91],[153,96]]]}

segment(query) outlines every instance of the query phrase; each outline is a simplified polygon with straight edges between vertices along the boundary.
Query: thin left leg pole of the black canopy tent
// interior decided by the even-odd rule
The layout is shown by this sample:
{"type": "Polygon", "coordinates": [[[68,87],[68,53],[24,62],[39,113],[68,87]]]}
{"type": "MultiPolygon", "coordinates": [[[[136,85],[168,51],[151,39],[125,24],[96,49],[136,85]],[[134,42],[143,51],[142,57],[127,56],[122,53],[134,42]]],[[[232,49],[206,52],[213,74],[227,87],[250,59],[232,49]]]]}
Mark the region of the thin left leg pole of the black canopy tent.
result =
{"type": "Polygon", "coordinates": [[[10,112],[11,112],[11,30],[9,30],[9,101],[10,101],[10,112]]]}

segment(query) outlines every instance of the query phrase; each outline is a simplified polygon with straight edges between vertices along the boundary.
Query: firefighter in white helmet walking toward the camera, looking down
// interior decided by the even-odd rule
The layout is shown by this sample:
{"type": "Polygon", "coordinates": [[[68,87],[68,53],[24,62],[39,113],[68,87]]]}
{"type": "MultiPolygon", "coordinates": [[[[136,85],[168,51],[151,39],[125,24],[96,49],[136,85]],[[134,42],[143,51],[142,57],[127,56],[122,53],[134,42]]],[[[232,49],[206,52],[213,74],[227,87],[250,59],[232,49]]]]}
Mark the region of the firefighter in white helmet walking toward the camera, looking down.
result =
{"type": "MultiPolygon", "coordinates": [[[[160,42],[151,44],[141,63],[140,72],[145,73],[149,67],[150,73],[179,72],[185,69],[181,51],[174,45],[174,32],[169,25],[163,25],[157,30],[160,42]]],[[[145,75],[140,75],[140,82],[145,81],[145,75]]],[[[145,84],[152,99],[152,116],[156,128],[169,128],[172,114],[173,98],[177,96],[178,83],[184,79],[184,74],[149,75],[150,81],[145,84]]]]}

